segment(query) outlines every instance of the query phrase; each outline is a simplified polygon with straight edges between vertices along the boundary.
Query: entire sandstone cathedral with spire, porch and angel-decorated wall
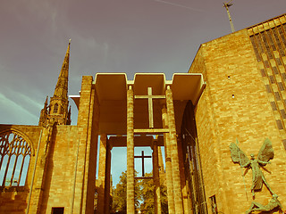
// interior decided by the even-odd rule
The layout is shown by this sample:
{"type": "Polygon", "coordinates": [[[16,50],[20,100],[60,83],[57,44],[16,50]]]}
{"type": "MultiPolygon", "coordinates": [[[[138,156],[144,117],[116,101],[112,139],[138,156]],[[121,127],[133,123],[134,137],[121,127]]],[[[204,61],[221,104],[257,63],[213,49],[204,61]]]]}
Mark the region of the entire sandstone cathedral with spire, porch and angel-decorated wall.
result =
{"type": "Polygon", "coordinates": [[[114,147],[127,148],[127,213],[137,213],[136,146],[153,151],[156,214],[161,177],[170,214],[286,209],[286,14],[200,45],[172,80],[97,73],[80,95],[68,95],[70,45],[38,126],[0,125],[0,213],[110,213],[114,147]]]}

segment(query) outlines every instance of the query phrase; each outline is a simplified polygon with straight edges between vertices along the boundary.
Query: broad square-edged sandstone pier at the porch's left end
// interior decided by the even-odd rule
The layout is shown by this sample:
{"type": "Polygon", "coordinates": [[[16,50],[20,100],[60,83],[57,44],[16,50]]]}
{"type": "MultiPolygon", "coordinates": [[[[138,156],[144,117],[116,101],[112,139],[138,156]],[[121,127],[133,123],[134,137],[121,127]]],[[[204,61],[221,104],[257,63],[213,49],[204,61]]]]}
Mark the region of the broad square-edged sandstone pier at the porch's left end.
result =
{"type": "Polygon", "coordinates": [[[81,82],[80,107],[78,115],[78,155],[74,177],[73,213],[91,213],[96,183],[97,133],[99,105],[93,86],[93,78],[83,76],[81,82]]]}

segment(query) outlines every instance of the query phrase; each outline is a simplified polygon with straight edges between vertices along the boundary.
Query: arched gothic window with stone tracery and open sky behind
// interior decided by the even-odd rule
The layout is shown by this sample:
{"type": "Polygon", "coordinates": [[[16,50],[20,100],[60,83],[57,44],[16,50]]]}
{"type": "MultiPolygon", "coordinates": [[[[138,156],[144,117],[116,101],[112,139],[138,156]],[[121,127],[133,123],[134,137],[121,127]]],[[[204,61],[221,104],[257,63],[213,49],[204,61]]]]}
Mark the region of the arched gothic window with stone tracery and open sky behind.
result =
{"type": "Polygon", "coordinates": [[[31,149],[16,131],[0,134],[0,186],[23,186],[29,169],[31,149]]]}

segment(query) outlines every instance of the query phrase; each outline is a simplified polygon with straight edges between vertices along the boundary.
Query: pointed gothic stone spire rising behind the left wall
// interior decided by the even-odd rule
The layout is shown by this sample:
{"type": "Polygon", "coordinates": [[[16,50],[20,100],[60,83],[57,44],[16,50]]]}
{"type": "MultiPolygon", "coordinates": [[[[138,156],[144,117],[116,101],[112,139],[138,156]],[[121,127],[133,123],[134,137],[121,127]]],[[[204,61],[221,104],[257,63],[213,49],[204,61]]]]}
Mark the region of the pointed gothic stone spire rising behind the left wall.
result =
{"type": "Polygon", "coordinates": [[[70,123],[70,119],[68,119],[69,114],[71,113],[68,110],[70,45],[71,39],[69,41],[68,49],[65,53],[62,70],[55,86],[54,96],[50,99],[50,111],[47,116],[49,124],[57,123],[59,125],[68,125],[70,123]]]}

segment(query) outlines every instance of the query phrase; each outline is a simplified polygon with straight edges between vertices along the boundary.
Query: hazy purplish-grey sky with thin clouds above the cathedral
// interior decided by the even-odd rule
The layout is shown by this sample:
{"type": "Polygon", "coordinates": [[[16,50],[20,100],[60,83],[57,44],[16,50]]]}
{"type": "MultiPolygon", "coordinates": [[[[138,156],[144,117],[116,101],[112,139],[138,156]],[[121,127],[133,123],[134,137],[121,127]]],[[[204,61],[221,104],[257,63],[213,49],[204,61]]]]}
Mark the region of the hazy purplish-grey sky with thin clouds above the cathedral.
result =
{"type": "MultiPolygon", "coordinates": [[[[199,45],[231,33],[218,0],[0,1],[0,124],[38,125],[70,38],[69,95],[79,95],[81,77],[97,72],[124,72],[129,79],[137,72],[164,72],[171,79],[189,70],[199,45]]],[[[232,4],[236,30],[286,9],[285,0],[232,4]]]]}

